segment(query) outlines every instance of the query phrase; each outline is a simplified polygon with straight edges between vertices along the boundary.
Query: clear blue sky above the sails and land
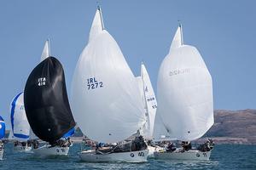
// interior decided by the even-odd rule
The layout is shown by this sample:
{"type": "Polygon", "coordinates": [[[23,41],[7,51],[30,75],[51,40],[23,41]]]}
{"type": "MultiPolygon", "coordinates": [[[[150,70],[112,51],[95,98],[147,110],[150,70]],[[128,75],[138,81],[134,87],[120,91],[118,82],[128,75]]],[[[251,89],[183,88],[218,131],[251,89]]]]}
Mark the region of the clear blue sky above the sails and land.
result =
{"type": "MultiPolygon", "coordinates": [[[[0,115],[38,65],[44,42],[64,67],[67,93],[88,42],[94,0],[0,0],[0,115]]],[[[134,75],[146,65],[154,89],[178,21],[185,44],[201,53],[212,75],[214,109],[256,108],[256,2],[251,0],[102,0],[106,30],[134,75]]],[[[156,92],[156,91],[155,91],[156,92]]]]}

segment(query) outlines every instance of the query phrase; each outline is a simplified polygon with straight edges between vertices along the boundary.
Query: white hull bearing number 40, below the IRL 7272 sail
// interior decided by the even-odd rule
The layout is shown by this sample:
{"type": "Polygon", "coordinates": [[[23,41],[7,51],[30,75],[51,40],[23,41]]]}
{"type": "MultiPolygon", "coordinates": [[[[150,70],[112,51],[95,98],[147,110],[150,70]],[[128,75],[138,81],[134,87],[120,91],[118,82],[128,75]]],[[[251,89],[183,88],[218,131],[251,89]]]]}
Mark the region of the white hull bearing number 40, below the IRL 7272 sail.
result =
{"type": "Polygon", "coordinates": [[[125,161],[125,162],[145,162],[148,157],[148,150],[139,150],[131,152],[119,152],[109,154],[96,154],[95,150],[86,150],[79,153],[82,161],[125,161]]]}

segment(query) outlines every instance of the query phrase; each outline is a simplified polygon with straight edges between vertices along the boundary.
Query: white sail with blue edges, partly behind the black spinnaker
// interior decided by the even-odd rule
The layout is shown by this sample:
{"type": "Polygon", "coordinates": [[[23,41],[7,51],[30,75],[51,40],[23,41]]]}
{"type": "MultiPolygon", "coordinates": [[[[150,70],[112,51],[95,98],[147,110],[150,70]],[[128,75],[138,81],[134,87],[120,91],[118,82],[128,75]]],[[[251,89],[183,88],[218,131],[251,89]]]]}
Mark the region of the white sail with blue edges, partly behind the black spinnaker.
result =
{"type": "Polygon", "coordinates": [[[10,105],[11,127],[14,139],[25,141],[29,139],[30,126],[26,119],[23,93],[15,96],[10,105]]]}

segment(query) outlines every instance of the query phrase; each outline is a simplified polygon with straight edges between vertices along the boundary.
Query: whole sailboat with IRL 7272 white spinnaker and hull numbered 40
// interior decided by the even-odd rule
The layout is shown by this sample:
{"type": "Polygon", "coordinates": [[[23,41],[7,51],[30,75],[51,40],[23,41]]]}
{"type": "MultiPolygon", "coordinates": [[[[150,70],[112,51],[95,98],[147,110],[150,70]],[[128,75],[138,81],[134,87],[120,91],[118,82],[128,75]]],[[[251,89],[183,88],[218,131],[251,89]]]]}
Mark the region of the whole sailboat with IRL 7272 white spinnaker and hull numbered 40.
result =
{"type": "Polygon", "coordinates": [[[146,122],[143,101],[119,45],[104,28],[100,7],[73,74],[71,106],[89,139],[112,146],[118,143],[108,151],[83,150],[82,161],[147,161],[147,147],[132,149],[132,142],[124,141],[146,122]]]}

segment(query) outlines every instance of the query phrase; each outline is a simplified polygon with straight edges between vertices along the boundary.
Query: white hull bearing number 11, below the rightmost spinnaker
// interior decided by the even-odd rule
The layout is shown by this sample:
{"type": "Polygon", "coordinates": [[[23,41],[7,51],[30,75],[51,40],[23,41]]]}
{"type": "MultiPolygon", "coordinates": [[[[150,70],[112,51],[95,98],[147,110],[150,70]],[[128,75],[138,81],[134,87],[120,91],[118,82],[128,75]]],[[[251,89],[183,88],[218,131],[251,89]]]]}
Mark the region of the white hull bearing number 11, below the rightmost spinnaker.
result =
{"type": "Polygon", "coordinates": [[[211,150],[202,152],[200,150],[188,150],[184,152],[173,151],[155,151],[155,159],[166,159],[166,160],[197,160],[197,161],[208,161],[211,156],[211,150]]]}

